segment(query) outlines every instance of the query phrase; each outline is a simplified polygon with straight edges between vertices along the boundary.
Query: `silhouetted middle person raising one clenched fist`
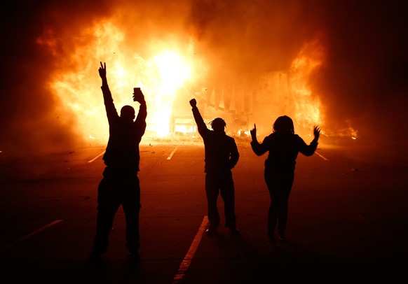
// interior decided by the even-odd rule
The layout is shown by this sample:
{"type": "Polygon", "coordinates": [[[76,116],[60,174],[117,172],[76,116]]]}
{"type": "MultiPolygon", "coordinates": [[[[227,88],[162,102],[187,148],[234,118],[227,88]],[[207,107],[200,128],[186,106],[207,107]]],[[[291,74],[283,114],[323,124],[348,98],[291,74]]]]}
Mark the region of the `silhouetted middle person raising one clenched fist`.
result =
{"type": "Polygon", "coordinates": [[[212,120],[210,122],[212,130],[210,130],[198,111],[196,99],[191,99],[190,105],[205,148],[205,194],[210,222],[205,233],[215,234],[219,227],[217,198],[220,194],[224,200],[225,227],[229,228],[231,234],[237,235],[239,233],[236,228],[235,189],[231,169],[238,162],[238,148],[235,140],[225,134],[226,123],[222,118],[212,120]]]}

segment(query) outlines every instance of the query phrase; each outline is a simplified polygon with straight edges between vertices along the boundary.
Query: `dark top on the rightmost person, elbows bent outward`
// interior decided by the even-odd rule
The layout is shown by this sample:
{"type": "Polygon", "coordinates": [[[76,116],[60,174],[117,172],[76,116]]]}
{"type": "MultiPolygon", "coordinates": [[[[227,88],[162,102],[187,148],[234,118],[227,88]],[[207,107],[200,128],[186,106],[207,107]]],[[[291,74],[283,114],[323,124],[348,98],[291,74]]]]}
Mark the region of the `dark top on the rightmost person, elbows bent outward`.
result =
{"type": "Polygon", "coordinates": [[[292,133],[274,132],[266,136],[262,143],[251,142],[252,150],[258,156],[269,151],[265,160],[265,169],[278,173],[290,173],[294,171],[296,158],[299,152],[311,156],[318,147],[317,141],[307,145],[301,137],[292,133]]]}

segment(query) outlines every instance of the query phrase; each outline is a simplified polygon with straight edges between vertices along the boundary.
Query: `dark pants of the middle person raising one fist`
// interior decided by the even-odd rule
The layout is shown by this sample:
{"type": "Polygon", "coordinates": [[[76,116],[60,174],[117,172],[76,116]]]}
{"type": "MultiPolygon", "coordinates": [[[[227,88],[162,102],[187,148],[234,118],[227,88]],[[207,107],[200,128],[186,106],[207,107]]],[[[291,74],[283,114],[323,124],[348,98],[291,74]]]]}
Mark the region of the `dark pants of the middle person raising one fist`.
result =
{"type": "Polygon", "coordinates": [[[208,220],[210,221],[210,226],[219,226],[219,213],[217,209],[218,194],[220,194],[224,200],[225,226],[235,226],[235,196],[231,171],[226,173],[206,173],[205,193],[207,195],[208,220]]]}

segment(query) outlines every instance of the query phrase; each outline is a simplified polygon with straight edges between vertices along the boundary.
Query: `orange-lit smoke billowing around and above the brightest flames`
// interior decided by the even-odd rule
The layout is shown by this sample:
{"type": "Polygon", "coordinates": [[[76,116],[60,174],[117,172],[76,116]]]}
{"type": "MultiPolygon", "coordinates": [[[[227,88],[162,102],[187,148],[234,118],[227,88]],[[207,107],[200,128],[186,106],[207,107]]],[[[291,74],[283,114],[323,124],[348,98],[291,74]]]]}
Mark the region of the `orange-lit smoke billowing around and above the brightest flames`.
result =
{"type": "Polygon", "coordinates": [[[267,133],[282,113],[296,120],[300,108],[293,106],[301,99],[276,90],[293,90],[291,78],[299,73],[294,60],[309,47],[308,57],[322,54],[306,85],[309,101],[321,105],[325,134],[352,128],[372,141],[407,138],[400,127],[408,90],[407,20],[400,6],[322,0],[26,2],[2,9],[4,153],[67,150],[86,143],[79,133],[81,114],[72,113],[49,84],[55,74],[90,69],[94,77],[81,81],[89,80],[89,90],[100,96],[97,68],[105,58],[84,57],[81,51],[91,42],[104,48],[102,36],[86,32],[104,20],[123,34],[123,45],[111,50],[112,58],[126,55],[129,47],[149,58],[157,52],[155,43],[193,45],[193,55],[204,64],[193,70],[198,79],[186,86],[184,97],[205,87],[200,96],[207,106],[213,104],[211,115],[226,113],[217,108],[253,114],[243,119],[244,130],[256,122],[267,133]],[[280,85],[271,86],[275,81],[280,85]]]}

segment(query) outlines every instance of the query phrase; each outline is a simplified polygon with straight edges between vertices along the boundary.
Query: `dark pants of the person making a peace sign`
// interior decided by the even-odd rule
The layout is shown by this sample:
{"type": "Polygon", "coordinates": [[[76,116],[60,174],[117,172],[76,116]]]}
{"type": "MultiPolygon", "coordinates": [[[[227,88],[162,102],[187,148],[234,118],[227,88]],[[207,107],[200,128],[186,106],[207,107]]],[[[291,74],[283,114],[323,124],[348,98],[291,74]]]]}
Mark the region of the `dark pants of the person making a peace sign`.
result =
{"type": "Polygon", "coordinates": [[[118,208],[122,206],[126,221],[126,248],[130,253],[140,248],[139,213],[140,183],[137,173],[105,174],[100,181],[97,197],[97,228],[94,250],[105,253],[108,237],[118,208]]]}

